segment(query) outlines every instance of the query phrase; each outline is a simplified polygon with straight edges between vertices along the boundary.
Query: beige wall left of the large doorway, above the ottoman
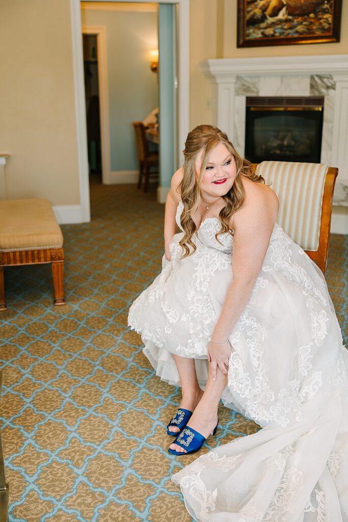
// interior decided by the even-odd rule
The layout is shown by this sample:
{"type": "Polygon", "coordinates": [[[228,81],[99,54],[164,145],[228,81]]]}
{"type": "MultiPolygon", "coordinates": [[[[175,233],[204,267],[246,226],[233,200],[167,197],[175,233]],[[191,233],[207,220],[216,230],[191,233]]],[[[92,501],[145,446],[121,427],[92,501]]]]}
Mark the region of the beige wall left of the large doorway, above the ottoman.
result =
{"type": "Polygon", "coordinates": [[[7,197],[79,204],[69,0],[1,0],[0,49],[7,197]]]}

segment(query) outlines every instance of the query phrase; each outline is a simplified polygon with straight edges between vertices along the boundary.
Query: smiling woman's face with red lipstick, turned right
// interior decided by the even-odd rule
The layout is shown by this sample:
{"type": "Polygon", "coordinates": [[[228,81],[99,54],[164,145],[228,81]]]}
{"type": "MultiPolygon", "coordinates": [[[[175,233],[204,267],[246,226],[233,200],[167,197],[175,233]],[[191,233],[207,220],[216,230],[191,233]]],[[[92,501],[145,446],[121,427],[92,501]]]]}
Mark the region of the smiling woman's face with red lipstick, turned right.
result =
{"type": "MultiPolygon", "coordinates": [[[[202,164],[203,150],[198,153],[195,170],[199,176],[202,164]]],[[[224,196],[231,189],[236,178],[237,168],[234,157],[227,147],[219,143],[210,153],[205,172],[203,173],[200,190],[211,196],[224,196]]]]}

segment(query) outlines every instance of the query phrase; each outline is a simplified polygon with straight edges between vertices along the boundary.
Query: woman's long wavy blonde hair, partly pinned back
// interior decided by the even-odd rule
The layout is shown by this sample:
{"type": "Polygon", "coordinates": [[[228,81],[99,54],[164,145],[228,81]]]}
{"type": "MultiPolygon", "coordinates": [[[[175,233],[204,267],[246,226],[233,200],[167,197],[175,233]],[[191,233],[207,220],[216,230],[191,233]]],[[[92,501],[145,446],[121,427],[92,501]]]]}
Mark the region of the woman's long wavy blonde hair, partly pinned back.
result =
{"type": "MultiPolygon", "coordinates": [[[[185,142],[184,149],[184,165],[183,165],[183,179],[178,185],[178,193],[181,196],[184,204],[184,209],[181,214],[181,225],[184,230],[184,235],[179,244],[185,251],[181,258],[193,254],[196,250],[196,245],[192,241],[192,236],[197,233],[197,227],[192,215],[198,209],[200,203],[200,184],[203,174],[206,170],[209,156],[214,147],[222,143],[231,152],[237,167],[236,179],[227,194],[222,196],[226,205],[220,210],[219,220],[221,229],[215,234],[215,238],[219,241],[218,236],[223,233],[230,233],[230,220],[233,214],[240,208],[245,200],[245,191],[241,180],[241,175],[248,177],[249,180],[256,183],[265,183],[262,176],[258,176],[253,172],[251,163],[239,156],[236,149],[233,147],[227,135],[220,131],[213,125],[198,125],[193,131],[189,132],[185,142]],[[200,151],[202,152],[202,163],[200,172],[196,173],[195,162],[200,151]]],[[[219,241],[220,242],[220,241],[219,241]]]]}

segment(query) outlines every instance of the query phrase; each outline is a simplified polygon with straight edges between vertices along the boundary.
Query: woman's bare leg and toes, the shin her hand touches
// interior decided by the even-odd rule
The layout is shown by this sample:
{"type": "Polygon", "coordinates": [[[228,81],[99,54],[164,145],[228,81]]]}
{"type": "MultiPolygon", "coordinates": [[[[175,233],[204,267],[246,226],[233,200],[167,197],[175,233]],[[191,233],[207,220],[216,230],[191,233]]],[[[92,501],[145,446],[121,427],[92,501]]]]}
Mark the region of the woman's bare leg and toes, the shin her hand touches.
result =
{"type": "MultiPolygon", "coordinates": [[[[193,428],[201,433],[203,437],[208,437],[218,422],[218,406],[222,396],[222,392],[227,383],[227,375],[224,375],[219,368],[217,369],[217,379],[213,381],[209,363],[209,373],[205,392],[197,404],[193,416],[187,423],[187,428],[193,428]]],[[[183,406],[184,407],[184,406],[183,406]]],[[[177,452],[185,452],[186,450],[176,444],[170,445],[171,449],[177,452]]]]}

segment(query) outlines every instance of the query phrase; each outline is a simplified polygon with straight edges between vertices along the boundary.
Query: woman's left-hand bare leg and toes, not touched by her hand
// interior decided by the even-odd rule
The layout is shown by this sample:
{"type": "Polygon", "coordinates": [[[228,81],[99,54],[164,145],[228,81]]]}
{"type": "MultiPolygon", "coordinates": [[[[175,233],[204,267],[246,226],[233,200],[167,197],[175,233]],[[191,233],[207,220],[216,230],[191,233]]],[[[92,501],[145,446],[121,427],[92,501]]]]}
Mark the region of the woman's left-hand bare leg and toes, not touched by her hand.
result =
{"type": "MultiPolygon", "coordinates": [[[[195,360],[179,357],[174,354],[173,359],[181,380],[182,400],[179,408],[194,411],[203,395],[197,381],[195,360]]],[[[169,431],[178,433],[180,430],[177,426],[169,426],[169,431]]]]}

